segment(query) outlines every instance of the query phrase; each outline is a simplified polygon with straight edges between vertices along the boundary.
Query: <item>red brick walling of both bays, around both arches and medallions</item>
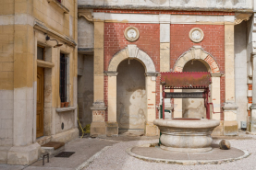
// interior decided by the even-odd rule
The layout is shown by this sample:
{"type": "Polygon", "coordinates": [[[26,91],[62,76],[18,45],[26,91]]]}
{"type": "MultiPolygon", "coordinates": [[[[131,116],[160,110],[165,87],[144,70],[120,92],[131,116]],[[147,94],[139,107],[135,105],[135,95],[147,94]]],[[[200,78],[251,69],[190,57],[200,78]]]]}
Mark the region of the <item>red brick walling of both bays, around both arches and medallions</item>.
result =
{"type": "MultiPolygon", "coordinates": [[[[160,29],[158,24],[130,24],[130,23],[105,23],[104,25],[104,71],[116,52],[123,50],[128,44],[136,44],[140,50],[145,51],[155,64],[156,71],[160,70],[160,29]],[[124,37],[124,31],[129,26],[140,30],[140,39],[129,42],[124,37]]],[[[223,25],[171,25],[170,61],[174,67],[178,57],[194,45],[211,53],[215,58],[221,73],[225,73],[225,29],[223,25]],[[201,28],[204,32],[204,40],[194,43],[189,40],[191,28],[201,28]]],[[[160,100],[160,80],[156,81],[156,106],[160,100]]],[[[104,80],[104,102],[107,104],[107,80],[104,80]]],[[[221,103],[225,102],[225,77],[221,77],[221,103]]],[[[157,118],[158,111],[156,109],[157,118]]],[[[107,113],[106,113],[107,117],[107,113]]]]}

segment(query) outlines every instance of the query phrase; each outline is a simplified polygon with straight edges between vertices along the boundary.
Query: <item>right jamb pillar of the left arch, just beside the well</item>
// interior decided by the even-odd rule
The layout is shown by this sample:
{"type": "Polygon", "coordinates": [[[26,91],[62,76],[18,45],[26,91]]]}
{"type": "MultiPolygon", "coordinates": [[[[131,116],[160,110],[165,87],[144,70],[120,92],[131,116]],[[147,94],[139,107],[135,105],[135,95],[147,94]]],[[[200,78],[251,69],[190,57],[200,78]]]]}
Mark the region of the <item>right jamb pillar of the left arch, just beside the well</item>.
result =
{"type": "Polygon", "coordinates": [[[146,73],[146,94],[147,94],[147,116],[145,122],[145,135],[146,136],[157,136],[159,130],[152,121],[156,119],[155,109],[155,85],[156,76],[158,73],[146,73]]]}

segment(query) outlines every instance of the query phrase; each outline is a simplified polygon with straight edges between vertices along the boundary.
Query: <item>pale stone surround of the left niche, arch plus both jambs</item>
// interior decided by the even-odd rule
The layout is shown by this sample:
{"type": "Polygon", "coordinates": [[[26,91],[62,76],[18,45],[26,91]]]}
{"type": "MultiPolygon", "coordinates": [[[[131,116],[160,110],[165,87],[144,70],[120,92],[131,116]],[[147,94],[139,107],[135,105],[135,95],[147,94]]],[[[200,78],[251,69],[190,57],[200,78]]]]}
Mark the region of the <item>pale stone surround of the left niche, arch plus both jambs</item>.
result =
{"type": "Polygon", "coordinates": [[[146,108],[146,123],[145,123],[145,135],[158,135],[158,130],[153,126],[152,121],[156,119],[156,108],[155,108],[155,85],[156,76],[158,73],[155,71],[154,63],[152,58],[144,51],[141,51],[137,45],[128,45],[122,51],[117,52],[112,60],[109,62],[107,72],[107,111],[108,121],[116,122],[116,75],[118,74],[118,65],[124,60],[138,60],[145,69],[145,88],[147,96],[147,108],[146,108]],[[153,130],[155,129],[155,130],[153,130]],[[153,132],[154,131],[154,132],[153,132]],[[155,134],[154,134],[155,133],[155,134]]]}

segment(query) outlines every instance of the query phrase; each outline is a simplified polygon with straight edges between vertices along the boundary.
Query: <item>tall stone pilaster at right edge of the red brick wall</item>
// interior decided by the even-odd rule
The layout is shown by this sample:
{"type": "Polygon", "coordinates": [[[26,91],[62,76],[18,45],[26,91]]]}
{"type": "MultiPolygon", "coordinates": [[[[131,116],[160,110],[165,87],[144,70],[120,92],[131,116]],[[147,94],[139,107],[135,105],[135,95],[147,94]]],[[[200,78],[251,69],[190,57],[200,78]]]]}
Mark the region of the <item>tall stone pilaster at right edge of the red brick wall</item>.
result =
{"type": "Polygon", "coordinates": [[[225,104],[224,135],[238,135],[237,105],[235,101],[234,24],[225,25],[225,104]]]}

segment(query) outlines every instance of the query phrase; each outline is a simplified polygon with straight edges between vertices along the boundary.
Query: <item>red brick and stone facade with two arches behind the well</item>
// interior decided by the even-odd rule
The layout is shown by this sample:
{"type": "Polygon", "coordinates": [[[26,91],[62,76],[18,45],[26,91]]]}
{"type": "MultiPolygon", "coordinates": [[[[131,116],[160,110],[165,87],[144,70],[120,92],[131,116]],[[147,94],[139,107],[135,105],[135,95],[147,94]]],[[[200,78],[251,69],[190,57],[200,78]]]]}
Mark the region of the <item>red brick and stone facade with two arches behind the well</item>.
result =
{"type": "MultiPolygon", "coordinates": [[[[253,94],[253,90],[248,91],[245,85],[241,84],[241,80],[246,76],[245,70],[250,68],[250,64],[238,65],[238,63],[250,58],[248,56],[253,52],[250,50],[252,43],[246,44],[240,40],[253,38],[250,35],[253,24],[250,20],[252,11],[253,1],[79,0],[79,23],[84,26],[87,23],[89,26],[88,34],[82,34],[82,37],[90,37],[89,34],[94,32],[94,46],[91,44],[90,47],[87,45],[88,48],[84,48],[88,41],[81,40],[79,41],[80,53],[91,50],[94,51],[94,61],[95,59],[103,60],[94,62],[94,66],[97,66],[97,72],[94,68],[94,102],[96,100],[104,102],[105,126],[109,121],[118,122],[118,114],[123,108],[131,108],[131,111],[136,112],[132,104],[127,103],[120,108],[119,99],[116,101],[116,96],[120,98],[117,90],[118,84],[116,86],[117,67],[126,59],[128,59],[127,62],[134,59],[125,51],[129,51],[132,45],[136,45],[139,51],[145,52],[150,57],[155,68],[153,71],[155,75],[148,77],[147,62],[135,57],[144,66],[146,74],[145,95],[148,100],[148,109],[145,113],[147,120],[144,128],[146,135],[157,135],[159,132],[157,128],[148,126],[152,124],[153,119],[159,118],[159,106],[162,103],[160,77],[157,73],[182,72],[186,64],[190,64],[189,67],[186,66],[186,69],[188,67],[194,70],[191,66],[193,61],[203,63],[205,69],[212,74],[213,84],[209,99],[213,102],[214,112],[221,112],[211,113],[212,119],[221,120],[220,126],[213,131],[213,135],[237,135],[240,121],[248,121],[248,124],[250,122],[247,114],[248,108],[245,107],[247,103],[244,99],[241,102],[239,97],[245,98],[245,94],[248,94],[250,100],[253,96],[250,95],[253,94]],[[92,23],[94,27],[91,27],[92,23]],[[138,40],[126,39],[124,33],[129,27],[138,29],[140,33],[138,40]],[[189,34],[193,28],[197,28],[204,35],[201,40],[191,40],[189,34]],[[242,42],[244,43],[241,44],[242,42]],[[235,47],[238,48],[235,49],[235,47]],[[119,57],[116,58],[116,56],[119,57]],[[103,72],[104,77],[99,80],[103,72]],[[153,85],[151,81],[154,81],[153,85]],[[148,93],[147,89],[152,89],[152,93],[148,93]],[[152,108],[153,111],[150,111],[152,108]]],[[[84,32],[84,30],[79,30],[79,32],[84,32]]],[[[123,71],[120,70],[120,72],[123,71]]],[[[129,73],[131,72],[127,69],[127,74],[129,73]]],[[[133,78],[130,81],[133,81],[133,78]]],[[[252,84],[250,77],[248,82],[252,84]]],[[[121,96],[124,98],[126,95],[121,96]]],[[[132,98],[129,102],[132,103],[132,98]]],[[[190,102],[188,103],[190,108],[187,108],[187,104],[182,104],[184,103],[182,99],[165,99],[166,108],[172,111],[170,117],[182,117],[186,109],[201,109],[197,108],[200,107],[201,100],[188,102],[190,102]]],[[[128,114],[127,112],[125,111],[125,114],[128,114]]],[[[133,118],[132,114],[130,116],[133,118]]],[[[131,121],[131,118],[128,119],[131,121]]],[[[121,125],[119,129],[122,129],[121,125]]]]}

